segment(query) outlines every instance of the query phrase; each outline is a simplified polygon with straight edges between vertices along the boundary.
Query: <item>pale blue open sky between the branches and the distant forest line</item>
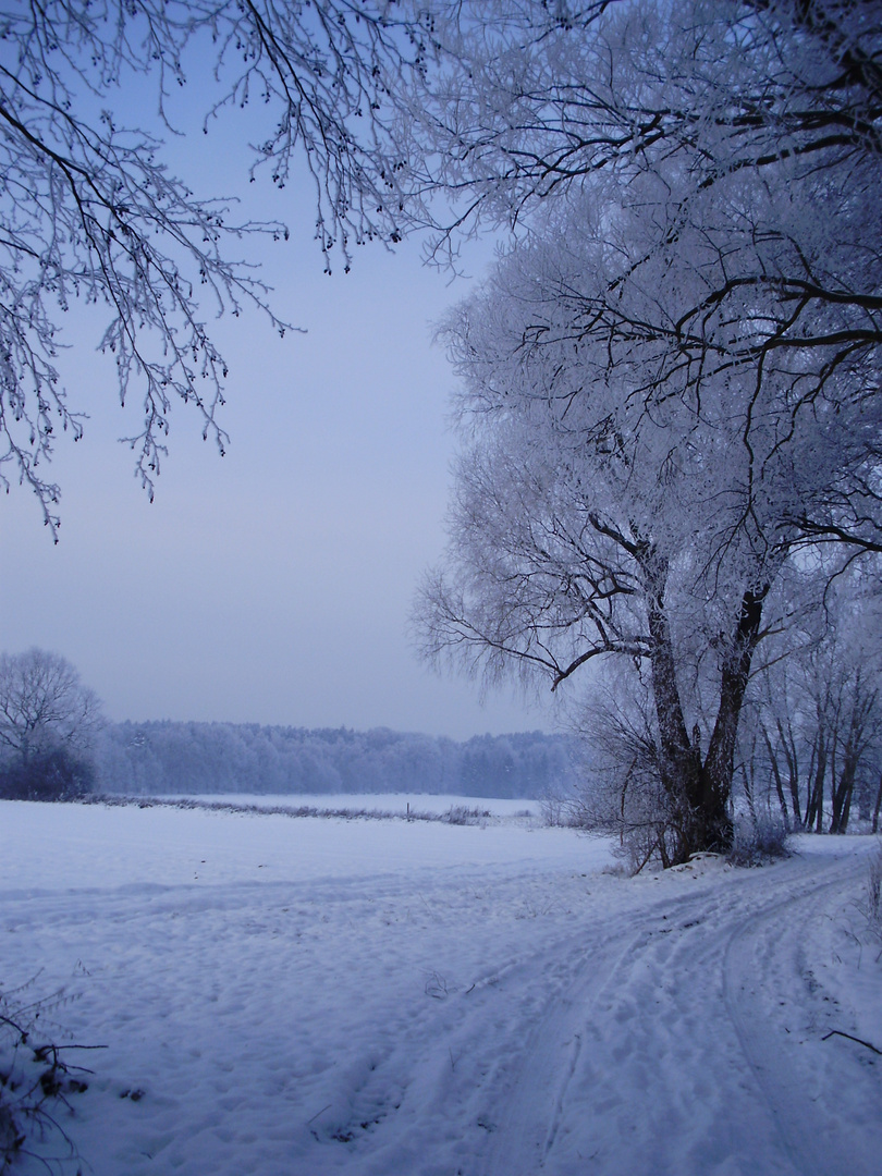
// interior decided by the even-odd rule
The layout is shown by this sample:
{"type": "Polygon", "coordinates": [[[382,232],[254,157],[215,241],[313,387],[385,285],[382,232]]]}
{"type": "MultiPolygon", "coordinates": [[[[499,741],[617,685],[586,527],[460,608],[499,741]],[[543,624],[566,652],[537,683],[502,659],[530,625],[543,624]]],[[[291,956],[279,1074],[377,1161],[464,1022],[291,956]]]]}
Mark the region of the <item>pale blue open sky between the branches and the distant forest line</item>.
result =
{"type": "MultiPolygon", "coordinates": [[[[435,676],[406,639],[416,581],[443,544],[454,449],[453,377],[430,323],[467,283],[423,267],[416,241],[394,255],[367,246],[350,274],[327,278],[306,191],[248,188],[220,126],[174,155],[202,192],[220,183],[260,198],[249,212],[285,216],[292,240],[258,252],[276,312],[308,334],[280,340],[256,314],[216,325],[228,455],[176,407],[151,506],[116,443],[138,410],[120,409],[113,365],[94,350],[100,316],[69,316],[67,383],[92,420],[76,446],[59,441],[58,547],[25,490],[0,503],[0,649],[64,654],[115,720],[549,728],[513,694],[479,706],[474,683],[435,676]]],[[[469,261],[489,256],[485,243],[469,261]]]]}

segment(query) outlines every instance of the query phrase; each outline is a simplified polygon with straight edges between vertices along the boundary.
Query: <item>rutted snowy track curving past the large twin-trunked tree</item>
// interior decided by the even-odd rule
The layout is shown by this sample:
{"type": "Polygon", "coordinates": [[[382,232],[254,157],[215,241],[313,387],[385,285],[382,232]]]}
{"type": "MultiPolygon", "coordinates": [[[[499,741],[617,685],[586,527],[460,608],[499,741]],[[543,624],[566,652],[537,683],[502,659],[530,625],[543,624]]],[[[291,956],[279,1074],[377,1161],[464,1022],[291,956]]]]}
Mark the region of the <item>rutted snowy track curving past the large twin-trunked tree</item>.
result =
{"type": "MultiPolygon", "coordinates": [[[[804,1074],[769,1017],[782,988],[804,983],[802,916],[844,904],[862,868],[797,860],[617,917],[532,1034],[486,1176],[617,1176],[623,1157],[653,1176],[876,1170],[847,1130],[816,1147],[804,1074]]],[[[849,1082],[868,1081],[847,1063],[849,1082]]]]}

